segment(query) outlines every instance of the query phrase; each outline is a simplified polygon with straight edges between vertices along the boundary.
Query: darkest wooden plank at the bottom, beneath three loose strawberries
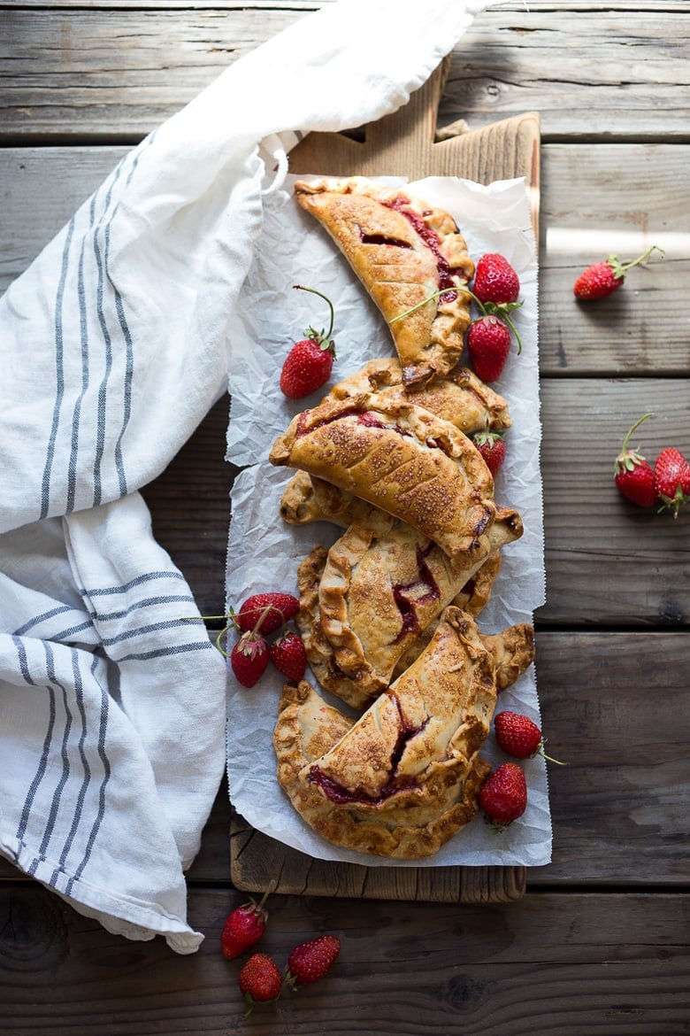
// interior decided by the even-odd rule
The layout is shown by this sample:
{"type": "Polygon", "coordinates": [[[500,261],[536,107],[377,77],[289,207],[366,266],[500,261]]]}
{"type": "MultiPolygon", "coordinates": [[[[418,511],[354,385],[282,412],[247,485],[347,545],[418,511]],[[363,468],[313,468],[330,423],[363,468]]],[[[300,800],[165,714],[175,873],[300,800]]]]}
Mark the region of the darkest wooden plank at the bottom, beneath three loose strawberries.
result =
{"type": "Polygon", "coordinates": [[[180,957],[161,940],[126,943],[36,886],[0,887],[5,1036],[681,1036],[690,1008],[689,900],[683,894],[532,894],[491,906],[273,896],[261,947],[282,967],[292,947],[332,931],[340,955],[321,983],[243,1018],[239,961],[219,952],[242,899],[192,890],[207,936],[180,957]]]}

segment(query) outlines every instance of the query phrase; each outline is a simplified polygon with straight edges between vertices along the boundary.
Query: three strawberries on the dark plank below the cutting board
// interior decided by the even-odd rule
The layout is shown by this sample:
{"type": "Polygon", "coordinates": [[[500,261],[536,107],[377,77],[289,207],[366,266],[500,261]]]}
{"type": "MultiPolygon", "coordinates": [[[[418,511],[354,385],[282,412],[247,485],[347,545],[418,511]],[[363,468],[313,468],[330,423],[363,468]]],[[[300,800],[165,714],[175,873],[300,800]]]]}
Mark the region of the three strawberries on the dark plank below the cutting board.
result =
{"type": "MultiPolygon", "coordinates": [[[[227,960],[241,956],[263,937],[268,923],[264,903],[273,887],[268,887],[259,902],[250,899],[228,915],[220,934],[227,960]]],[[[238,975],[240,991],[248,1004],[245,1013],[250,1014],[254,1004],[275,1002],[284,988],[295,991],[318,982],[331,970],[339,952],[340,940],[336,936],[319,936],[292,950],[284,972],[269,953],[252,953],[238,975]]]]}

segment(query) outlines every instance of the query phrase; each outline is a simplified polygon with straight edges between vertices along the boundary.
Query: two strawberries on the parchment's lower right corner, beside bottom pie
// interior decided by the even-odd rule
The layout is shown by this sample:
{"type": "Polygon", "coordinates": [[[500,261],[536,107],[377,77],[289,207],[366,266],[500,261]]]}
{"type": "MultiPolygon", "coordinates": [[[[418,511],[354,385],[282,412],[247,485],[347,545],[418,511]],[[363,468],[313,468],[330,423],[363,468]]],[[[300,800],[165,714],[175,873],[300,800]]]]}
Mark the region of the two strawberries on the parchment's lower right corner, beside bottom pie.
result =
{"type": "MultiPolygon", "coordinates": [[[[506,710],[493,717],[493,732],[499,747],[515,759],[543,755],[549,762],[564,764],[544,753],[541,729],[522,713],[506,710]]],[[[517,762],[502,762],[481,786],[479,805],[486,821],[499,830],[522,815],[528,804],[528,787],[522,768],[517,762]]]]}

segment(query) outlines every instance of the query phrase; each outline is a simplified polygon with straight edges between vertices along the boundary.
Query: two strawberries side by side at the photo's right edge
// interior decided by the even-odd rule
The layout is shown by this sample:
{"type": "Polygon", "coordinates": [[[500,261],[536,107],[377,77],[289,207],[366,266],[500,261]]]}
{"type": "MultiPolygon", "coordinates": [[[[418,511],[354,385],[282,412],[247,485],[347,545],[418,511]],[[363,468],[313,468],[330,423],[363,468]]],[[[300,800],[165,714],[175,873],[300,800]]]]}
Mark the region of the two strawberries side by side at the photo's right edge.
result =
{"type": "Polygon", "coordinates": [[[683,507],[690,500],[690,464],[676,447],[661,451],[654,465],[628,443],[632,433],[643,421],[652,418],[646,413],[632,426],[621,453],[616,458],[614,482],[619,491],[640,508],[658,508],[671,511],[678,518],[683,507]]]}

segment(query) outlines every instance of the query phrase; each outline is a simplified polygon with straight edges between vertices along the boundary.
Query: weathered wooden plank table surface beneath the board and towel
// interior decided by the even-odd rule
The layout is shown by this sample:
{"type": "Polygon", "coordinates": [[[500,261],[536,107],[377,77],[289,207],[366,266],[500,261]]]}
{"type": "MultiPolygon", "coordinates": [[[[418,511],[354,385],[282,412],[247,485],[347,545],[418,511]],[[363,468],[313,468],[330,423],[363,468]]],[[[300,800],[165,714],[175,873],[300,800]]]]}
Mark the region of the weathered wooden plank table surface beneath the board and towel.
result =
{"type": "MultiPolygon", "coordinates": [[[[0,290],[133,144],[229,63],[318,4],[286,0],[0,0],[0,290]]],[[[0,864],[6,1036],[251,1031],[304,1036],[681,1036],[690,1033],[690,508],[618,494],[613,459],[690,455],[690,4],[515,0],[453,54],[441,125],[541,117],[540,350],[547,602],[535,616],[553,858],[512,902],[275,896],[265,948],[342,941],[327,980],[243,1018],[219,952],[246,894],[230,874],[221,787],[188,873],[190,957],[110,936],[0,864]],[[587,263],[647,247],[590,307],[587,263]],[[641,431],[641,430],[640,430],[641,431]]],[[[221,400],[144,490],[197,595],[223,610],[221,400]]]]}

